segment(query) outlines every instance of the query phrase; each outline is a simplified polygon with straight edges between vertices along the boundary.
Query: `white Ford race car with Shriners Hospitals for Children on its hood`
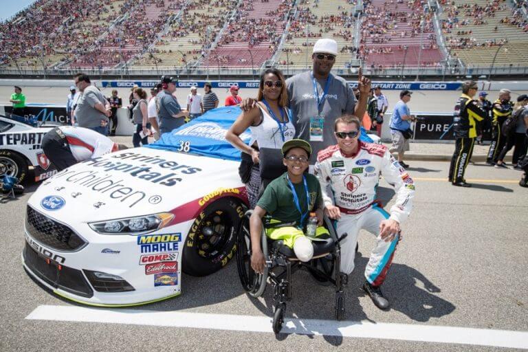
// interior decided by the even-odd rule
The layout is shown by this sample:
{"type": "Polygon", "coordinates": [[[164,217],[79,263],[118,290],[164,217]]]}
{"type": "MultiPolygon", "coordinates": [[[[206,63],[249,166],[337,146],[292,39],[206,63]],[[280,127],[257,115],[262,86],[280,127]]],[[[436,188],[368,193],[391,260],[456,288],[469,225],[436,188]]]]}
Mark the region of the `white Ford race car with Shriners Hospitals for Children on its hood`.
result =
{"type": "Polygon", "coordinates": [[[25,269],[70,300],[122,307],[179,295],[182,270],[227,265],[248,205],[240,151],[224,137],[240,111],[208,111],[155,144],[44,181],[26,209],[25,269]]]}

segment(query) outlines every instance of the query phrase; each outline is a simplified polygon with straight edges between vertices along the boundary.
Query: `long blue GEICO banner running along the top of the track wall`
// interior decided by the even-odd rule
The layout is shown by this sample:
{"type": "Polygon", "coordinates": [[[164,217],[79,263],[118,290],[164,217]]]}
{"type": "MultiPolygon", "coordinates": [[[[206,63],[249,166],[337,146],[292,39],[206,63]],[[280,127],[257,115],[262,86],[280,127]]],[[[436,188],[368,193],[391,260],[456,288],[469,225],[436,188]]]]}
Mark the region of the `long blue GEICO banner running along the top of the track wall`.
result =
{"type": "MultiPolygon", "coordinates": [[[[104,88],[131,88],[134,85],[139,87],[154,87],[159,81],[157,80],[136,80],[136,81],[122,81],[122,80],[103,80],[102,87],[104,88]]],[[[180,80],[177,83],[177,87],[188,88],[188,87],[198,87],[203,88],[206,81],[191,81],[191,80],[180,80]]],[[[259,81],[250,80],[250,81],[235,81],[235,80],[221,80],[221,81],[212,81],[211,85],[213,88],[225,88],[228,89],[232,85],[240,88],[259,88],[259,81]]],[[[401,90],[409,89],[413,91],[426,90],[426,91],[456,91],[461,87],[461,83],[457,82],[374,82],[373,85],[379,85],[382,89],[388,90],[401,90]]],[[[357,87],[358,82],[349,81],[349,86],[357,87]]]]}

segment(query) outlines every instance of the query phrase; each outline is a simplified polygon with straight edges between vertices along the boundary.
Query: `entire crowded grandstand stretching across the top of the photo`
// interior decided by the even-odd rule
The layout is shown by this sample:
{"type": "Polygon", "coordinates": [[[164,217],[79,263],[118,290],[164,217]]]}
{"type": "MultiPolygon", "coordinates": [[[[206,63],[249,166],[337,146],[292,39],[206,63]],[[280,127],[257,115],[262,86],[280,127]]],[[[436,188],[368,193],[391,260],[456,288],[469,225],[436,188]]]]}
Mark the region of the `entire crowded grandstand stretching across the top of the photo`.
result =
{"type": "Polygon", "coordinates": [[[445,73],[456,58],[453,74],[522,72],[528,14],[525,1],[509,1],[38,0],[0,23],[0,70],[293,74],[326,37],[338,42],[341,71],[445,73]]]}

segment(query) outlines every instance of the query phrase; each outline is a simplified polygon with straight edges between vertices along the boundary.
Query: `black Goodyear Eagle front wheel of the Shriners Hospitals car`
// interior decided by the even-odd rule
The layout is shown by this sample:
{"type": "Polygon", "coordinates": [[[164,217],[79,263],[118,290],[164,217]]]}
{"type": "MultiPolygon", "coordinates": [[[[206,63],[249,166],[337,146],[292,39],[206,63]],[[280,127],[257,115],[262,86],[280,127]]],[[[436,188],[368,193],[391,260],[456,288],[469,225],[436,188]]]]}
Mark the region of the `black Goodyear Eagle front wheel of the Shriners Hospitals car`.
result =
{"type": "Polygon", "coordinates": [[[241,204],[230,198],[219,199],[200,212],[184,244],[182,270],[206,276],[227,265],[236,252],[241,217],[241,204]]]}

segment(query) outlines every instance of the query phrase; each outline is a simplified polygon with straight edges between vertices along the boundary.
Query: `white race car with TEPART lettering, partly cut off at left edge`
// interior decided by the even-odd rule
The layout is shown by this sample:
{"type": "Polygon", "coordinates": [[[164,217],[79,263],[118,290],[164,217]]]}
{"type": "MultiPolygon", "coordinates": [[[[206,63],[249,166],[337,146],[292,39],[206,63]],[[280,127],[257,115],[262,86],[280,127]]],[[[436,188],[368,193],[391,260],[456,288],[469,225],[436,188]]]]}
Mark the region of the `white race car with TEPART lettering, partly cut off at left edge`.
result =
{"type": "Polygon", "coordinates": [[[36,127],[23,121],[0,115],[0,175],[21,182],[32,166],[35,181],[42,181],[57,172],[41,148],[42,137],[52,126],[36,127]]]}

